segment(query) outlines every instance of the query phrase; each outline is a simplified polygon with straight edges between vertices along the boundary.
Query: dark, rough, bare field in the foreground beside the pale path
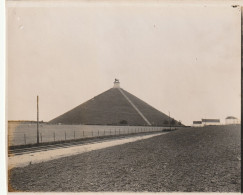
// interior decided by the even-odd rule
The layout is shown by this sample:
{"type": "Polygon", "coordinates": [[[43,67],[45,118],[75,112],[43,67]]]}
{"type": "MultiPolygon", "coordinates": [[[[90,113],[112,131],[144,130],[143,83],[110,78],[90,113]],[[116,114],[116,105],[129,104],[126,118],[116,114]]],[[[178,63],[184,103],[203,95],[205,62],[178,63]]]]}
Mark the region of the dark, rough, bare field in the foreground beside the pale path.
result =
{"type": "Polygon", "coordinates": [[[165,135],[9,171],[10,191],[240,191],[240,126],[165,135]]]}

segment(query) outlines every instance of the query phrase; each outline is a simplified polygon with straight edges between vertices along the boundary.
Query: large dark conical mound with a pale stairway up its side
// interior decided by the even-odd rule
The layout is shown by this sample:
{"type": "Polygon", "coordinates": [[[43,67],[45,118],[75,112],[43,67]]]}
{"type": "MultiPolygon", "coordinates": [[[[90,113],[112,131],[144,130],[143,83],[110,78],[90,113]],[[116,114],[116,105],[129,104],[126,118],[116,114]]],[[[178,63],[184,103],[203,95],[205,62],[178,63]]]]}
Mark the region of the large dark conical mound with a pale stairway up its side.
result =
{"type": "MultiPolygon", "coordinates": [[[[114,87],[49,123],[168,126],[170,118],[114,83],[114,87]]],[[[174,121],[177,124],[177,121],[174,121]]]]}

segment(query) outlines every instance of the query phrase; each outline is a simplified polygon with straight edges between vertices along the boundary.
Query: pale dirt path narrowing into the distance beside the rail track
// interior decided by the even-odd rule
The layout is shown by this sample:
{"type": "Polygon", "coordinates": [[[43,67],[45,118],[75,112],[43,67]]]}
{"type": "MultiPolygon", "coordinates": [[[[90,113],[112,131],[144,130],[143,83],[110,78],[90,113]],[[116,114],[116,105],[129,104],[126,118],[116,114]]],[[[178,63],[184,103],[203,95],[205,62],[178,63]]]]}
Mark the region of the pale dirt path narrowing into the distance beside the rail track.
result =
{"type": "Polygon", "coordinates": [[[81,154],[84,152],[90,152],[92,150],[98,150],[98,149],[103,149],[111,146],[129,143],[129,142],[134,142],[142,139],[148,139],[166,133],[167,132],[157,133],[153,135],[142,135],[142,136],[130,137],[126,139],[116,139],[116,140],[110,140],[101,143],[93,143],[93,144],[86,144],[80,146],[70,146],[68,148],[58,148],[49,151],[33,152],[30,154],[11,156],[8,158],[8,167],[9,169],[13,167],[24,167],[29,164],[46,162],[49,160],[58,159],[66,156],[81,154]]]}

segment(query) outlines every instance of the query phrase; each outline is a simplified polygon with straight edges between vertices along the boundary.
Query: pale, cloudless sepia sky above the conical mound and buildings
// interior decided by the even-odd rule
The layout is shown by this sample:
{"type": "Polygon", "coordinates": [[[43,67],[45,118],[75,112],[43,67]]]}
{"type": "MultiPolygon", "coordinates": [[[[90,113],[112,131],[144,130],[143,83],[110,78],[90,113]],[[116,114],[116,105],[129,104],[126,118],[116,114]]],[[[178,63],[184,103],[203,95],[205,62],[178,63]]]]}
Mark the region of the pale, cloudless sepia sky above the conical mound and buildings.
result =
{"type": "Polygon", "coordinates": [[[49,121],[115,78],[186,125],[240,118],[240,25],[240,9],[229,5],[9,6],[7,119],[36,120],[39,95],[40,120],[49,121]]]}

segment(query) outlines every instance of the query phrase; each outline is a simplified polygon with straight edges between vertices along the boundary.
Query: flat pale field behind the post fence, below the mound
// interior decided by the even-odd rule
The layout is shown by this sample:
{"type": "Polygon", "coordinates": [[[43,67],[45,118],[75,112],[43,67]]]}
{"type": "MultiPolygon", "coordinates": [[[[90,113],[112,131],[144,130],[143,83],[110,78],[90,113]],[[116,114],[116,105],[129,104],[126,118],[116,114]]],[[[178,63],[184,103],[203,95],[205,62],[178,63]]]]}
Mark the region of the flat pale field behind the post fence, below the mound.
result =
{"type": "MultiPolygon", "coordinates": [[[[158,131],[169,127],[149,126],[105,126],[105,125],[39,125],[39,140],[41,143],[63,140],[74,140],[104,135],[118,135],[139,132],[158,131]]],[[[37,140],[36,123],[9,123],[8,145],[34,144],[37,140]]]]}

